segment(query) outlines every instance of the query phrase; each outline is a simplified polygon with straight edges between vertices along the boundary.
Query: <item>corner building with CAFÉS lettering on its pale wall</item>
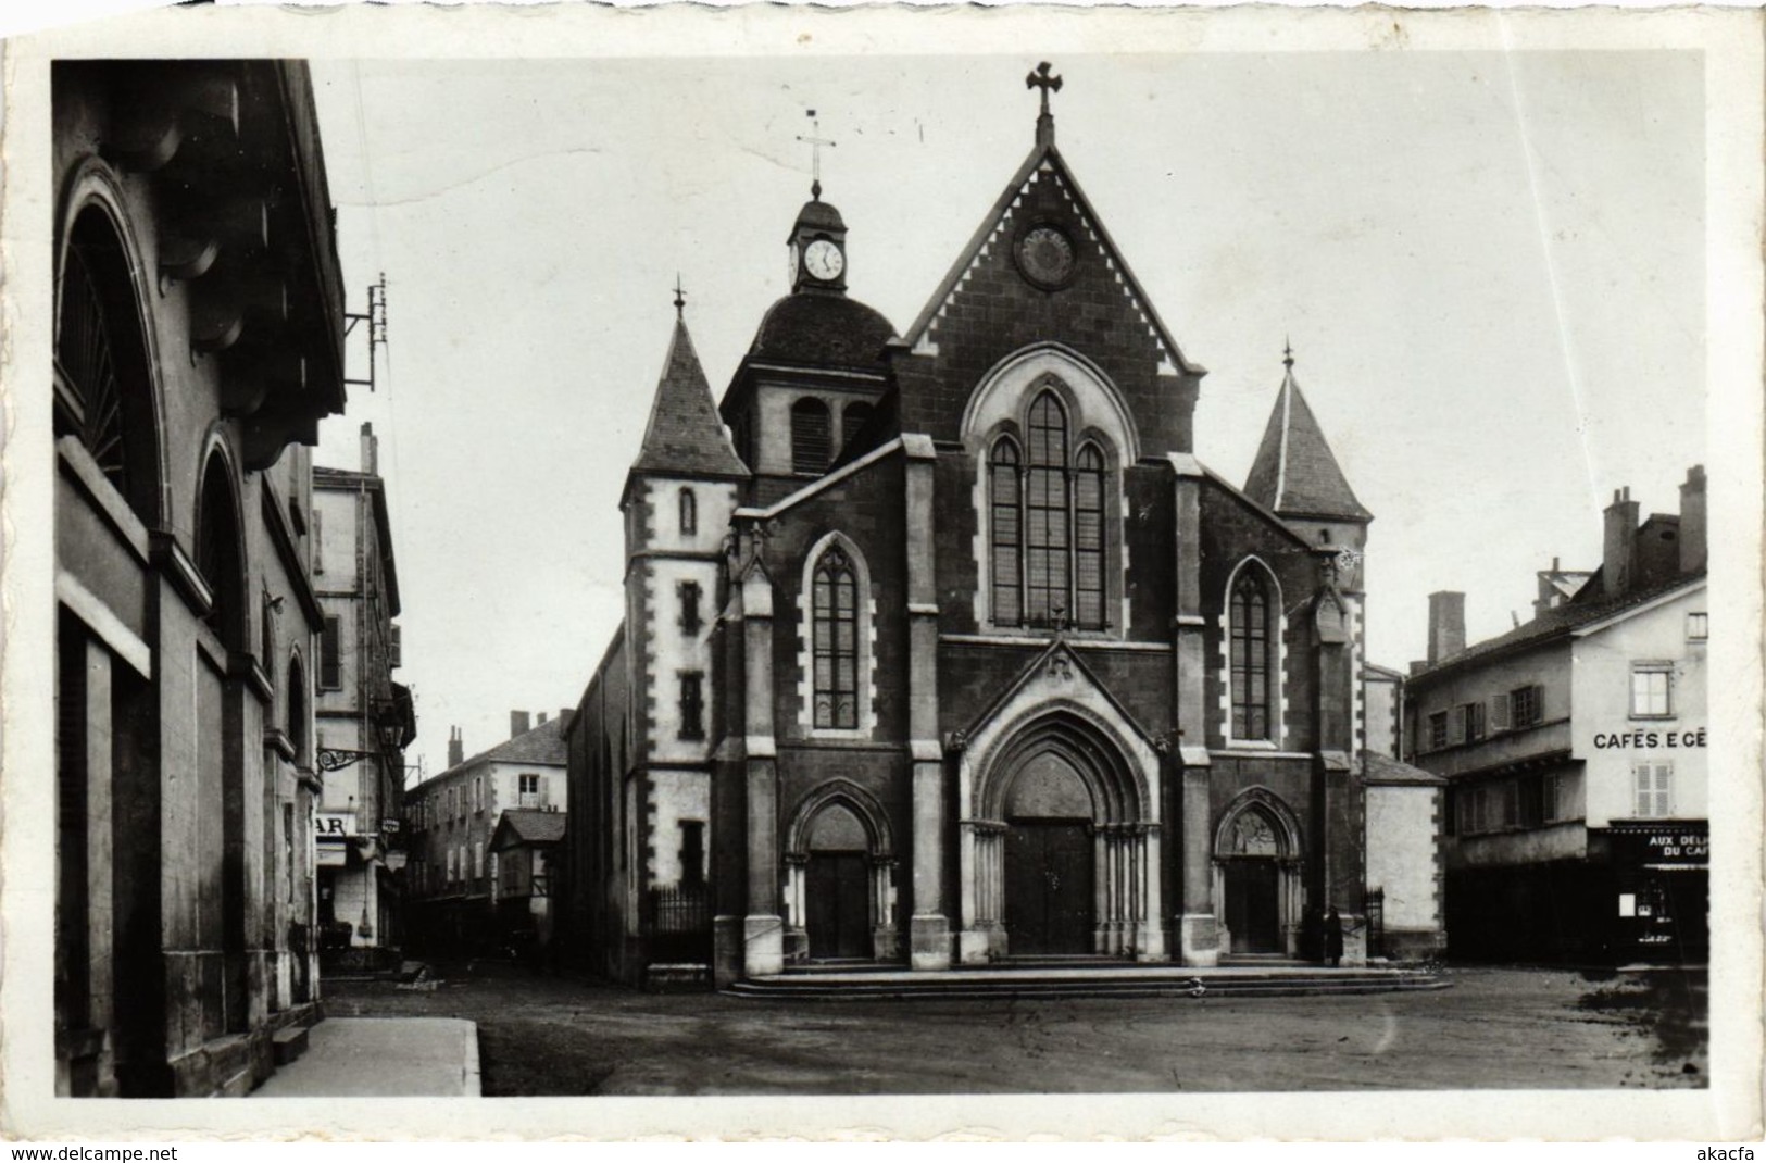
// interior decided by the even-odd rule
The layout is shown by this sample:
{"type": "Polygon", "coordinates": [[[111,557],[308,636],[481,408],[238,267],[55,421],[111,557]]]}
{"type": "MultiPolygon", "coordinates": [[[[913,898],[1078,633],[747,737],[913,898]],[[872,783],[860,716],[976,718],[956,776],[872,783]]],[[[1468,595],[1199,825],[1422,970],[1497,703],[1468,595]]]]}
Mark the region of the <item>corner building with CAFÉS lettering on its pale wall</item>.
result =
{"type": "Polygon", "coordinates": [[[1434,594],[1411,762],[1450,783],[1455,956],[1697,960],[1708,944],[1706,481],[1605,511],[1600,567],[1552,562],[1535,617],[1466,645],[1434,594]]]}

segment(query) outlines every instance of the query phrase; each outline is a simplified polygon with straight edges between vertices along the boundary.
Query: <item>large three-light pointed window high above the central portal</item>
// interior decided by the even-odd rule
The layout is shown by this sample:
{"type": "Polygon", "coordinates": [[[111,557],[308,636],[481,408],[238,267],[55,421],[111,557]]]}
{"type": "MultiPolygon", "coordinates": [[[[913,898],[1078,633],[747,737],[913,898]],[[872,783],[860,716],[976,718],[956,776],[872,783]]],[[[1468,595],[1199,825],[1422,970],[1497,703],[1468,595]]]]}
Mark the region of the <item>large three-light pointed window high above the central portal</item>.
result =
{"type": "Polygon", "coordinates": [[[992,622],[1104,629],[1104,452],[1070,452],[1067,410],[1045,391],[1026,415],[1026,452],[1001,437],[989,456],[992,622]]]}

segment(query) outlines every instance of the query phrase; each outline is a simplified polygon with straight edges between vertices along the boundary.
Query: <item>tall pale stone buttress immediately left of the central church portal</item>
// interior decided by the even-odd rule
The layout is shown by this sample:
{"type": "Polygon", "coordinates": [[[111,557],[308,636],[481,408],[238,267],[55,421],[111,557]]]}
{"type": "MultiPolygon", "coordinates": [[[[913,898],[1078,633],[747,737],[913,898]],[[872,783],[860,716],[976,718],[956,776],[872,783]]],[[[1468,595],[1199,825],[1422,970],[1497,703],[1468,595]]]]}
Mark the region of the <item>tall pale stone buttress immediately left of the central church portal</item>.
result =
{"type": "Polygon", "coordinates": [[[908,739],[913,756],[913,919],[909,965],[950,969],[945,914],[945,749],[938,742],[938,582],[932,438],[904,433],[908,541],[908,739]]]}

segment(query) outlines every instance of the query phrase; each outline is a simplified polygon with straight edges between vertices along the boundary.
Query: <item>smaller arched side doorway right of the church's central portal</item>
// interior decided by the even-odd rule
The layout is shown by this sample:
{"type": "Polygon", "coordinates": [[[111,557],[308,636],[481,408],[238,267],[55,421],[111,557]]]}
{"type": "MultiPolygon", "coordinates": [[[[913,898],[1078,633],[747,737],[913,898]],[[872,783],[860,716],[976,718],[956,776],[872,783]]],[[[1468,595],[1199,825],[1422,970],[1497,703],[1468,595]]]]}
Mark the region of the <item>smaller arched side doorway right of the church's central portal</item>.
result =
{"type": "Polygon", "coordinates": [[[1222,910],[1224,951],[1298,953],[1300,857],[1300,822],[1279,795],[1252,788],[1233,801],[1215,831],[1215,900],[1222,910]]]}

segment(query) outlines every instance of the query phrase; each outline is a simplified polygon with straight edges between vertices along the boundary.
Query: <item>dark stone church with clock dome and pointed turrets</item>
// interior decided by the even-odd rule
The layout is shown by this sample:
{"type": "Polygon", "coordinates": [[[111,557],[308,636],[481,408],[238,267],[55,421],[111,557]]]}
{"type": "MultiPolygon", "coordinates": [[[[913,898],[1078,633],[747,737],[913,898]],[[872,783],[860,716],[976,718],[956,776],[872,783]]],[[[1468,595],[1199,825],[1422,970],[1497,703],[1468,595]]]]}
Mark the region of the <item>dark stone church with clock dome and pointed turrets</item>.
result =
{"type": "Polygon", "coordinates": [[[1321,956],[1332,907],[1363,956],[1372,514],[1291,357],[1243,488],[1199,460],[1204,368],[1030,81],[1030,156],[906,327],[819,180],[721,403],[676,320],[569,725],[567,962],[1206,967],[1321,956]]]}

